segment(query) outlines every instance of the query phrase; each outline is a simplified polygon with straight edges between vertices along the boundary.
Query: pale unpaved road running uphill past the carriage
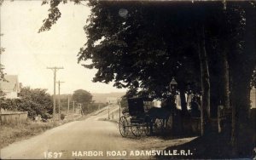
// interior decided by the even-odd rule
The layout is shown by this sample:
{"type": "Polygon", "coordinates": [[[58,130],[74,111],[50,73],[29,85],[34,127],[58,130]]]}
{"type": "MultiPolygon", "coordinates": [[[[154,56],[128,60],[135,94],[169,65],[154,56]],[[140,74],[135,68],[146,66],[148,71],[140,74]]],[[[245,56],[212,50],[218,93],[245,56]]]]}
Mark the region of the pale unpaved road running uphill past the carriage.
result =
{"type": "MultiPolygon", "coordinates": [[[[118,106],[109,107],[110,113],[118,109],[118,106]]],[[[161,140],[146,136],[123,138],[117,123],[102,120],[107,117],[108,107],[84,120],[66,123],[31,139],[21,140],[3,148],[1,159],[148,159],[153,157],[136,156],[131,151],[160,150],[192,140],[161,140]]]]}

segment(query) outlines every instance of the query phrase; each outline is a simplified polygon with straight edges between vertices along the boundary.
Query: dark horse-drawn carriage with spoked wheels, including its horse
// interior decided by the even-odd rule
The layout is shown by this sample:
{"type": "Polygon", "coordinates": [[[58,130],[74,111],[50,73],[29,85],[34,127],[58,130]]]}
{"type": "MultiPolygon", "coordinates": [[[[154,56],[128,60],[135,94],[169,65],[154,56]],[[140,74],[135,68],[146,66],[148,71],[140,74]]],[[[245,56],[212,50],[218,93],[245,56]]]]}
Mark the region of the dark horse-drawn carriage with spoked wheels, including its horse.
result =
{"type": "Polygon", "coordinates": [[[153,100],[149,98],[128,99],[128,112],[119,118],[119,132],[127,136],[130,129],[135,136],[143,132],[146,135],[162,133],[166,129],[166,123],[170,117],[170,111],[154,107],[153,100]]]}

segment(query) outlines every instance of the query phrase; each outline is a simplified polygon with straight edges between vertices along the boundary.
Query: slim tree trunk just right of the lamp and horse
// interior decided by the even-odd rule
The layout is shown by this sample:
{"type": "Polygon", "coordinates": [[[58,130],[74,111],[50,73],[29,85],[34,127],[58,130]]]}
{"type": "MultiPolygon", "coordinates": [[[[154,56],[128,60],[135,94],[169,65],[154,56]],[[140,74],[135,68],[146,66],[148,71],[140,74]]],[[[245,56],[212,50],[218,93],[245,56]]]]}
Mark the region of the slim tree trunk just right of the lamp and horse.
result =
{"type": "Polygon", "coordinates": [[[207,51],[205,43],[204,26],[199,29],[199,59],[201,64],[201,135],[207,134],[209,130],[210,118],[210,75],[207,62],[207,51]]]}

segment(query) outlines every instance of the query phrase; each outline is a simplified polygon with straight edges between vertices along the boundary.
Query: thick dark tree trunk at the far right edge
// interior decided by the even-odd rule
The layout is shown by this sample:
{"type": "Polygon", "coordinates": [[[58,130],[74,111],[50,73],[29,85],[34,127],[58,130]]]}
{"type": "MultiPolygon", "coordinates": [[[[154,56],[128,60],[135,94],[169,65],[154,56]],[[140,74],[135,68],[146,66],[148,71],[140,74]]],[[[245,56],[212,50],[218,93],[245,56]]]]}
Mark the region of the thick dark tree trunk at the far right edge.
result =
{"type": "Polygon", "coordinates": [[[244,7],[246,11],[245,50],[244,53],[233,57],[232,63],[231,145],[235,156],[238,153],[237,150],[244,150],[242,146],[249,145],[241,139],[247,137],[247,134],[243,135],[242,128],[250,124],[247,122],[250,109],[250,80],[256,61],[256,11],[250,3],[245,3],[244,7]]]}

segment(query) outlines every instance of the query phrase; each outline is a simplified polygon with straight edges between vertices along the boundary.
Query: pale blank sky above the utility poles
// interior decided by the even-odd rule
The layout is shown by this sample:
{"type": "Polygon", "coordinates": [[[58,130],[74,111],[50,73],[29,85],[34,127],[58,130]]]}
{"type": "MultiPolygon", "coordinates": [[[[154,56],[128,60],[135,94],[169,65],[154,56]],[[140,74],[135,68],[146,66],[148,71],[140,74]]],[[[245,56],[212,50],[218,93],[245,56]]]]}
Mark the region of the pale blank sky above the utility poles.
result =
{"type": "Polygon", "coordinates": [[[73,3],[61,4],[61,18],[50,31],[38,33],[48,16],[49,4],[42,1],[4,2],[1,7],[2,64],[9,75],[18,75],[23,86],[48,89],[53,93],[52,66],[63,66],[57,71],[61,94],[73,94],[76,89],[91,93],[125,92],[113,88],[113,83],[92,83],[96,70],[78,64],[77,54],[86,43],[84,25],[90,8],[73,3]]]}

